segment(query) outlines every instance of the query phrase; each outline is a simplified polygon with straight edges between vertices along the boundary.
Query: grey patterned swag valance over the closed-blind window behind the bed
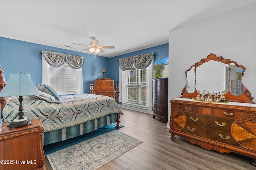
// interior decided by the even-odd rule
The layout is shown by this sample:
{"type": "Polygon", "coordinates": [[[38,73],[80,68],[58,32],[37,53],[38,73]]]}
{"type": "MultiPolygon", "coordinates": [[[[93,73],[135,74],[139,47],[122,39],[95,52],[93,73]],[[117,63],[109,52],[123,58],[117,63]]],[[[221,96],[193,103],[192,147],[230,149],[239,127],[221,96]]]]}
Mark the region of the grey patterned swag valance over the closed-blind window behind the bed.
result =
{"type": "Polygon", "coordinates": [[[56,53],[52,51],[41,51],[44,59],[50,66],[60,67],[65,62],[73,69],[79,69],[84,64],[84,58],[76,55],[69,55],[63,53],[56,53]]]}

